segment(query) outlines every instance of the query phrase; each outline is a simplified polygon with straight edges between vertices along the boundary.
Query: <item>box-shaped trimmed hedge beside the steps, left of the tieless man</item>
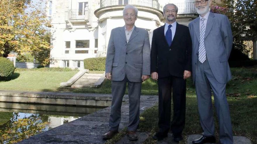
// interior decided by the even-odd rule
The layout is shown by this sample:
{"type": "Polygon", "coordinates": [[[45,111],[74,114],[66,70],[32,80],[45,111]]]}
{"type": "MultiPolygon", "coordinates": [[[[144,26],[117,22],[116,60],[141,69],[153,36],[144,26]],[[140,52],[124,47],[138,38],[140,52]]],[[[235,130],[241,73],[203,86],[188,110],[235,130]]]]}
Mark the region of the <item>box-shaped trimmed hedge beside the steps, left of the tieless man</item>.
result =
{"type": "Polygon", "coordinates": [[[106,57],[84,59],[84,68],[88,70],[105,70],[106,57]]]}

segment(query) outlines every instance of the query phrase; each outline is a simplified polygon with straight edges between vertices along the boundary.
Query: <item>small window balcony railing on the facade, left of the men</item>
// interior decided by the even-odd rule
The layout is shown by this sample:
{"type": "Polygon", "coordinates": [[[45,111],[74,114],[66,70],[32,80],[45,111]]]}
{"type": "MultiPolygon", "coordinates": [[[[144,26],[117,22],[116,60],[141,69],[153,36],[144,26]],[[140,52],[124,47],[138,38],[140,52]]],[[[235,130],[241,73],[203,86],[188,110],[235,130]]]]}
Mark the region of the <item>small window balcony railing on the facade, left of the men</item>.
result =
{"type": "Polygon", "coordinates": [[[69,11],[69,19],[85,19],[88,20],[88,9],[73,9],[69,11]]]}

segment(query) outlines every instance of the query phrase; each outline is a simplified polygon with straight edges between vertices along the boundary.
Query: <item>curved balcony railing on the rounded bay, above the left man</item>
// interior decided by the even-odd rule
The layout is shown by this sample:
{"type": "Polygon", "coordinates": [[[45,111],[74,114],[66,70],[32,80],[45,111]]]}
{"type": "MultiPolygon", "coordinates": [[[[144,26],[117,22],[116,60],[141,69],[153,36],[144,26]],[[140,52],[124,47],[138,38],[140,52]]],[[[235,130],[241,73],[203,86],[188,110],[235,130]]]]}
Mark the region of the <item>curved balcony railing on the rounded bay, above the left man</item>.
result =
{"type": "Polygon", "coordinates": [[[139,5],[159,9],[159,3],[156,0],[101,0],[100,7],[116,5],[139,5]]]}

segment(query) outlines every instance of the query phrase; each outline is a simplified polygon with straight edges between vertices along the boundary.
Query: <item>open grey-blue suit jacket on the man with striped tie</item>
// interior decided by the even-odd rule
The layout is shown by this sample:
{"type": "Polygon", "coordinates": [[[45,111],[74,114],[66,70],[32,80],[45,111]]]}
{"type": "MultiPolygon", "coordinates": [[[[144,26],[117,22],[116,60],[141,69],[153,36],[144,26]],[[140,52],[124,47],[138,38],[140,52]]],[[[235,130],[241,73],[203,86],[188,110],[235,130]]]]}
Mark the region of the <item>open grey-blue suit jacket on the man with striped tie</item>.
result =
{"type": "MultiPolygon", "coordinates": [[[[200,41],[199,17],[190,22],[189,31],[192,38],[192,75],[193,82],[195,82],[200,41]]],[[[219,83],[227,83],[232,77],[228,65],[232,44],[233,35],[228,17],[210,12],[206,24],[204,45],[211,71],[219,83]]]]}

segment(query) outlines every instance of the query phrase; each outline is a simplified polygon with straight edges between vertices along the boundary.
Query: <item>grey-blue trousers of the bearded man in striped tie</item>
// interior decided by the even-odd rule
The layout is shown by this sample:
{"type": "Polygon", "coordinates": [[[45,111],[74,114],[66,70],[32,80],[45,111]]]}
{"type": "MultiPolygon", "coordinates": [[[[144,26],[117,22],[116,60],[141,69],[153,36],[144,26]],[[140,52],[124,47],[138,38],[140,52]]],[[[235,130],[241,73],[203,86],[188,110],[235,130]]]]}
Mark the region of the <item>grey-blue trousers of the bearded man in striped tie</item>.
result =
{"type": "Polygon", "coordinates": [[[197,63],[195,88],[197,93],[200,123],[204,136],[214,136],[214,121],[211,102],[211,89],[218,115],[220,129],[220,143],[233,144],[232,125],[228,101],[226,97],[226,83],[218,83],[213,76],[208,60],[197,63]]]}

